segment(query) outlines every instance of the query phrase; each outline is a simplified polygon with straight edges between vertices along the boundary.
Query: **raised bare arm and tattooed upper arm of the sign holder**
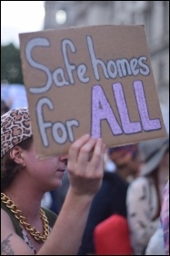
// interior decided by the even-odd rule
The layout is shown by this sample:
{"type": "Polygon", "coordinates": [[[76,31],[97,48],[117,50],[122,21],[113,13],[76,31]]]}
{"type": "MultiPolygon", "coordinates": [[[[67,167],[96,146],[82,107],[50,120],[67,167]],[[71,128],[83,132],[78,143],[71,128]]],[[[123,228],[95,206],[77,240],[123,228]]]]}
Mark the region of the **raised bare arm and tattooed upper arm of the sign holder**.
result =
{"type": "MultiPolygon", "coordinates": [[[[89,208],[102,184],[104,147],[101,139],[96,140],[89,135],[82,136],[71,145],[67,166],[70,187],[55,226],[37,254],[77,254],[89,208]],[[92,150],[94,154],[88,162],[92,150]]],[[[15,234],[13,224],[5,211],[2,211],[1,254],[32,255],[25,241],[15,234]]]]}

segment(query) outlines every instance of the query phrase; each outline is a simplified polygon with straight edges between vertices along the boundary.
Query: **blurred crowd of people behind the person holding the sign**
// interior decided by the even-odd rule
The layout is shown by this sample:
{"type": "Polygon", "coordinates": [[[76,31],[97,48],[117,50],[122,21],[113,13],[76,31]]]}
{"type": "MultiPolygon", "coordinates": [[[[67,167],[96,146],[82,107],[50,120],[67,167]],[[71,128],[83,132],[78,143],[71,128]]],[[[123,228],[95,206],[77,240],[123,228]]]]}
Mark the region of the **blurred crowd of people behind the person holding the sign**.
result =
{"type": "MultiPolygon", "coordinates": [[[[1,92],[1,115],[27,106],[23,85],[1,92]]],[[[169,255],[169,137],[108,148],[104,170],[78,255],[169,255]]],[[[68,188],[65,172],[42,206],[59,215],[68,188]]]]}

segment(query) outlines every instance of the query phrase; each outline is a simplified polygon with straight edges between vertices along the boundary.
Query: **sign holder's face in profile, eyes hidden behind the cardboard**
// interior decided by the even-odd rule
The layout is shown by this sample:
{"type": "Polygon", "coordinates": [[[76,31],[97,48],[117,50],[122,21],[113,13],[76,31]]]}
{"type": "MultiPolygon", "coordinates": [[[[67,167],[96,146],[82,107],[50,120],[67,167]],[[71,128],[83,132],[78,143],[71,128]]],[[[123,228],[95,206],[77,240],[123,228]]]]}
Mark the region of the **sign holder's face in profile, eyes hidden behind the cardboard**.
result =
{"type": "Polygon", "coordinates": [[[27,178],[33,179],[38,187],[45,191],[54,190],[62,185],[67,155],[59,155],[39,160],[35,155],[35,144],[24,150],[25,170],[27,178]]]}

